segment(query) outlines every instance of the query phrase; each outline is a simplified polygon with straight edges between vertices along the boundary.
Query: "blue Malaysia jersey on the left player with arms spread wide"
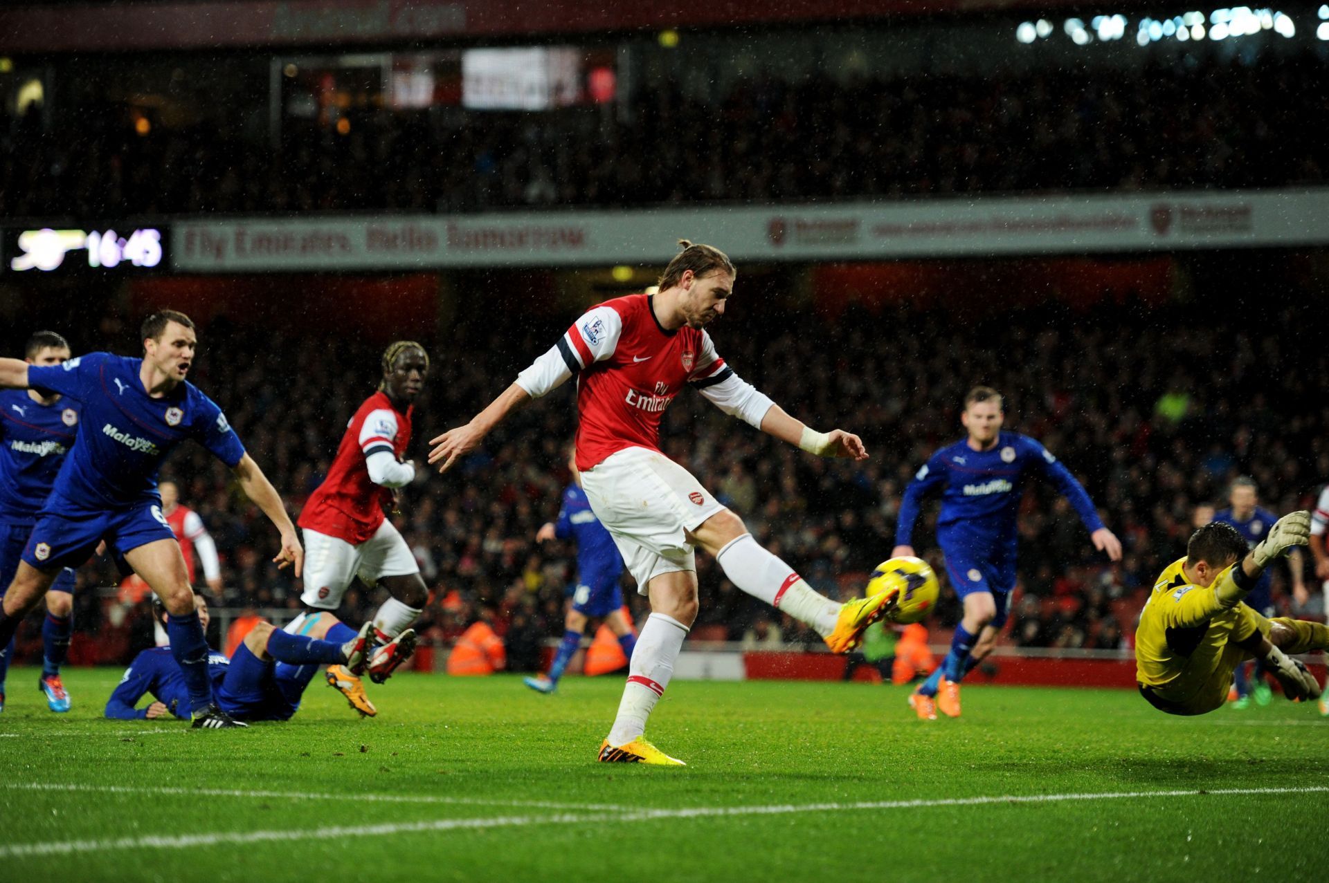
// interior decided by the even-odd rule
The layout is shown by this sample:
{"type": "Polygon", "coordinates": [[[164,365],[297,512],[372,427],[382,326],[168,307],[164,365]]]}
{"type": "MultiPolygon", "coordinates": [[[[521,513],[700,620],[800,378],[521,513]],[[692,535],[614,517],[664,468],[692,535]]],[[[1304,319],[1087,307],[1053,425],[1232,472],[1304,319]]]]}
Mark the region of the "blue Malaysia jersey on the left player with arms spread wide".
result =
{"type": "Polygon", "coordinates": [[[245,446],[211,398],[189,381],[153,398],[138,378],[141,365],[141,359],[88,353],[60,365],[28,368],[33,388],[82,402],[78,442],[56,478],[48,503],[52,511],[117,509],[154,499],[161,461],[186,438],[227,466],[241,462],[245,446]]]}

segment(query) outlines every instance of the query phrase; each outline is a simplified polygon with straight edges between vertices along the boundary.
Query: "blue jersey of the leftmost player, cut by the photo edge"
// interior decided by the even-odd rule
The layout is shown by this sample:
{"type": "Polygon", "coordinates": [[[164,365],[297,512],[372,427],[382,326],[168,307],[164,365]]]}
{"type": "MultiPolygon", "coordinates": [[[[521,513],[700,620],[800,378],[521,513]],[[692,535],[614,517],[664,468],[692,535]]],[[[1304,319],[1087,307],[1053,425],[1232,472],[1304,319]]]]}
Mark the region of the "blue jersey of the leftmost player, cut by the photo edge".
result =
{"type": "Polygon", "coordinates": [[[27,389],[0,389],[0,524],[36,521],[74,445],[80,410],[69,396],[41,405],[27,389]]]}

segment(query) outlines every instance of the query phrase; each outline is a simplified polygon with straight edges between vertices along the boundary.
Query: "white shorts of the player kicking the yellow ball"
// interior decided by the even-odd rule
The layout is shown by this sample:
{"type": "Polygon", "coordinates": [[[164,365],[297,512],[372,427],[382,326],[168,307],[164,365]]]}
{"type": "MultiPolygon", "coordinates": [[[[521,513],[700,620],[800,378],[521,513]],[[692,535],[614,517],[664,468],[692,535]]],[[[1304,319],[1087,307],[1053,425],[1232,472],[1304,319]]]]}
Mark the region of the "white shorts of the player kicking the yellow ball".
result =
{"type": "Polygon", "coordinates": [[[651,579],[695,571],[683,531],[696,530],[722,506],[690,471],[664,454],[627,447],[582,473],[582,489],[646,595],[651,579]]]}

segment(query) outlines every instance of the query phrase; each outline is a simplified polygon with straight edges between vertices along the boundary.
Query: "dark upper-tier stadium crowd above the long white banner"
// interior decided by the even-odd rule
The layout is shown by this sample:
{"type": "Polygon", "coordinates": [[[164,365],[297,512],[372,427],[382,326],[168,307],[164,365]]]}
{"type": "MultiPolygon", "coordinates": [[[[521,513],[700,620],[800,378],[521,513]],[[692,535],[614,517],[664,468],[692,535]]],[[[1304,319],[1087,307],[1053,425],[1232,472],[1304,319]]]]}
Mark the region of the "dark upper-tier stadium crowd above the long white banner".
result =
{"type": "Polygon", "coordinates": [[[623,114],[354,102],[283,121],[278,149],[250,125],[258,106],[211,102],[171,127],[89,82],[77,138],[51,138],[36,109],[0,116],[0,204],[84,218],[451,212],[1322,183],[1325,70],[1308,52],[999,77],[760,76],[718,94],[666,78],[642,82],[623,114]]]}

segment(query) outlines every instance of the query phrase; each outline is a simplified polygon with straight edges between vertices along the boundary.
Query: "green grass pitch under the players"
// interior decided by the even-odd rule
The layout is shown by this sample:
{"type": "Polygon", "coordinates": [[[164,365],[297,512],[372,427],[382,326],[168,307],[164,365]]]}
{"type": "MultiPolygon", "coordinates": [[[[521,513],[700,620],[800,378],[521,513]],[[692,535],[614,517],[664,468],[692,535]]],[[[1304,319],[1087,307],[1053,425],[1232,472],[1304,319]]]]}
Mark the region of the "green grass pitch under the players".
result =
{"type": "Polygon", "coordinates": [[[655,769],[593,762],[618,679],[546,697],[516,677],[401,675],[364,721],[315,682],[287,724],[190,732],[101,720],[117,677],[70,671],[74,710],[56,716],[19,689],[33,672],[11,672],[0,880],[1284,882],[1329,859],[1329,791],[1212,793],[1329,787],[1329,720],[1281,700],[1172,718],[1126,690],[977,686],[965,717],[924,724],[904,688],[675,682],[650,734],[688,767],[655,769]],[[1211,793],[633,815],[1170,790],[1211,793]],[[409,823],[424,830],[352,830],[409,823]],[[302,835],[328,827],[348,830],[302,835]],[[203,841],[141,839],[191,835],[203,841]],[[16,854],[72,841],[88,843],[16,854]]]}

